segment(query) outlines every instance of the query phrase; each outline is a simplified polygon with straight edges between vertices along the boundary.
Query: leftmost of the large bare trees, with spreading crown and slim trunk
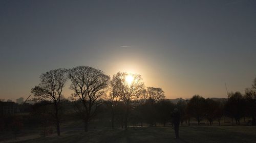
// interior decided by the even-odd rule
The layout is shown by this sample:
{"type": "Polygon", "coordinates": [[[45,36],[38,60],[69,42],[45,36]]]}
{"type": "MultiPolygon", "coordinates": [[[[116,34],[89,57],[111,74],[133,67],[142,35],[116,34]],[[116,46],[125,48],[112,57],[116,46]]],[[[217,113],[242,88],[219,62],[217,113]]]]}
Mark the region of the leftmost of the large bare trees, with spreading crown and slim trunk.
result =
{"type": "Polygon", "coordinates": [[[50,70],[49,72],[42,73],[40,76],[40,83],[35,86],[31,93],[39,100],[50,100],[54,104],[54,118],[56,121],[56,129],[58,136],[60,135],[59,128],[59,109],[61,102],[61,93],[68,80],[66,69],[50,70]]]}

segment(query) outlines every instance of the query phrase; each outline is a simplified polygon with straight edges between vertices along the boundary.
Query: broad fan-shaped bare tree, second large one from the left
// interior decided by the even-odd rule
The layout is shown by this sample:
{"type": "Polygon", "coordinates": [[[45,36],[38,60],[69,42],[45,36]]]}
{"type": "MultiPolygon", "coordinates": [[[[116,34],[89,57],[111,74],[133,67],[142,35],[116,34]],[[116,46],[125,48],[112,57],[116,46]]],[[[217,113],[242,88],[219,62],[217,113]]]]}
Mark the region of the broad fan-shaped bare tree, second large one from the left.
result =
{"type": "Polygon", "coordinates": [[[69,71],[71,79],[70,89],[78,97],[80,104],[76,104],[84,122],[84,131],[88,131],[88,123],[96,115],[101,105],[101,97],[109,85],[110,76],[103,71],[88,66],[78,66],[69,71]],[[81,105],[81,106],[80,106],[81,105]]]}

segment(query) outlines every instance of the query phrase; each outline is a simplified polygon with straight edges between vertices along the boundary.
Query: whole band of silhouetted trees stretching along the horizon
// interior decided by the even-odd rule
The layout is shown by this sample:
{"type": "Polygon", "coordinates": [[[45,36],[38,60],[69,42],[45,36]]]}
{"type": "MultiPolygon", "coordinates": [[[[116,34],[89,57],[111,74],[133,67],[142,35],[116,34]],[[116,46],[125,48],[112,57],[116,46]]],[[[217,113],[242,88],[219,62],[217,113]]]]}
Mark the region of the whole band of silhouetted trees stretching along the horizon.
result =
{"type": "MultiPolygon", "coordinates": [[[[250,118],[249,124],[255,126],[256,117],[256,78],[251,88],[240,92],[228,93],[227,101],[215,101],[194,95],[189,100],[180,100],[177,104],[165,99],[161,88],[145,87],[141,75],[118,72],[111,78],[103,71],[89,66],[72,69],[55,69],[40,75],[40,83],[31,89],[34,105],[23,107],[28,115],[4,116],[0,120],[1,130],[12,130],[15,134],[24,126],[44,127],[44,135],[49,126],[54,125],[60,135],[60,123],[81,119],[84,131],[95,120],[111,122],[111,128],[128,126],[166,126],[172,123],[171,112],[177,108],[183,122],[190,125],[191,119],[198,125],[207,120],[209,125],[223,117],[234,119],[240,125],[242,118],[250,118]],[[133,80],[127,81],[127,76],[133,80]],[[63,88],[70,80],[73,94],[69,98],[62,95],[63,88]],[[73,118],[71,118],[73,117],[73,118]],[[145,125],[144,125],[145,126],[145,125]]],[[[233,122],[232,122],[233,123],[233,122]]]]}

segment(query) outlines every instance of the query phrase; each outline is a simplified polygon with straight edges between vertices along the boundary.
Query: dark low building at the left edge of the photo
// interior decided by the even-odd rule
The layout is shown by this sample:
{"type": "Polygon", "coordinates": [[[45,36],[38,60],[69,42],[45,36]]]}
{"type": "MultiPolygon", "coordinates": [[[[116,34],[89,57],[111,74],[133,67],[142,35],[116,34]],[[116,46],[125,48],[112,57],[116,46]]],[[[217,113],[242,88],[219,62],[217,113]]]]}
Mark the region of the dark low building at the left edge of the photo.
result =
{"type": "Polygon", "coordinates": [[[17,104],[15,102],[0,102],[0,115],[13,114],[17,112],[17,104]]]}

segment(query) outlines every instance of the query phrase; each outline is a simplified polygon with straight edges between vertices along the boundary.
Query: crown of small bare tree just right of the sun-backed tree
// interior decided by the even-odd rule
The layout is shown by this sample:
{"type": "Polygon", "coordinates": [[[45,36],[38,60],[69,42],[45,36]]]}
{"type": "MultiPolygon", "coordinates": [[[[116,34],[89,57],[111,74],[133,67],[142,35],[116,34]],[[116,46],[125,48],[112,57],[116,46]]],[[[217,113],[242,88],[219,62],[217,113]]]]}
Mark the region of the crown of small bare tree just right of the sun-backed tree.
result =
{"type": "Polygon", "coordinates": [[[154,104],[165,96],[161,88],[147,87],[147,98],[151,104],[154,104]]]}

